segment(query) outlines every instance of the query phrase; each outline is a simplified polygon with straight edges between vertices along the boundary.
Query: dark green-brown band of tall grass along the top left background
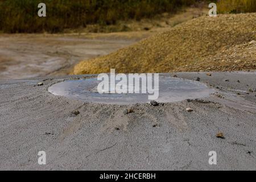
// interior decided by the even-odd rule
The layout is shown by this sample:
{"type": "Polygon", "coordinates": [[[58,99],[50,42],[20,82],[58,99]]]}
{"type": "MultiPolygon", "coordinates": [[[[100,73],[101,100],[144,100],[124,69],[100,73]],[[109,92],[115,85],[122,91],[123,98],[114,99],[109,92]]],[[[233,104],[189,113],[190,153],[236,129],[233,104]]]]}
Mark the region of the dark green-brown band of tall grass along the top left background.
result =
{"type": "Polygon", "coordinates": [[[86,24],[115,24],[117,20],[151,18],[199,0],[44,0],[47,17],[38,17],[41,0],[0,0],[0,31],[60,32],[86,24]]]}

